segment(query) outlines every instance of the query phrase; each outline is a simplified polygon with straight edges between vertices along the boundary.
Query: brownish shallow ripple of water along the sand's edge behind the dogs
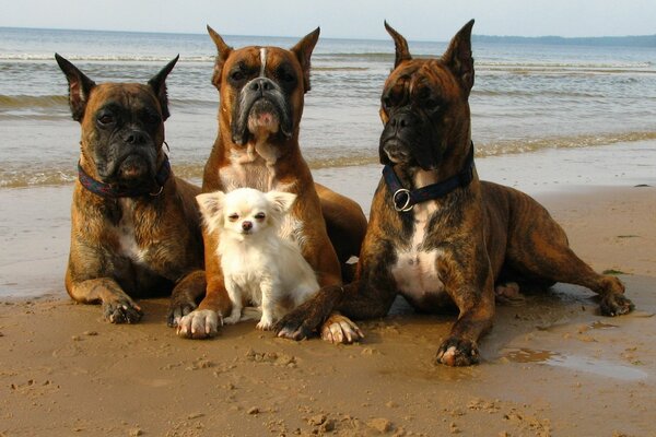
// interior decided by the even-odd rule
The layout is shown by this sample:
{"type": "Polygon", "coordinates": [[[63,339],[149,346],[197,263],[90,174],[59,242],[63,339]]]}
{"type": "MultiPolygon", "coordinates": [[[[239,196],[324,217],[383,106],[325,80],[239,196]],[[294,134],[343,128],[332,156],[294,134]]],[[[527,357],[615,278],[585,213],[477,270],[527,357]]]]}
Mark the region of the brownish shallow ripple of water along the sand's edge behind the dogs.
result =
{"type": "MultiPolygon", "coordinates": [[[[520,140],[494,140],[476,142],[476,156],[500,156],[518,153],[532,153],[549,149],[581,149],[639,141],[656,141],[656,131],[605,133],[572,137],[536,138],[520,140]]],[[[312,169],[375,165],[378,163],[377,150],[351,150],[348,155],[338,155],[333,149],[306,149],[305,158],[312,169]]],[[[0,164],[0,188],[26,188],[39,186],[68,185],[75,180],[74,163],[70,166],[44,163],[38,170],[24,165],[20,168],[0,164]],[[46,168],[44,168],[46,166],[46,168]]],[[[176,176],[199,181],[202,178],[204,162],[184,162],[173,164],[176,176]]]]}

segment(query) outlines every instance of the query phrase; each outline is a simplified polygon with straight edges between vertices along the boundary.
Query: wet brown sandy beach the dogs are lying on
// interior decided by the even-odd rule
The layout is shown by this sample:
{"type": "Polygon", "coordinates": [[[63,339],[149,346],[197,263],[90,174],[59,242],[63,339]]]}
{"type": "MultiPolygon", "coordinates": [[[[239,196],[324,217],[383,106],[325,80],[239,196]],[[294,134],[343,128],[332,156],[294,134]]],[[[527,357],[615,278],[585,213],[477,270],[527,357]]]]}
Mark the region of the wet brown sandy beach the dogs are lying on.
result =
{"type": "MultiPolygon", "coordinates": [[[[636,310],[605,318],[591,292],[558,284],[499,305],[469,368],[432,364],[454,316],[402,302],[362,322],[366,338],[350,346],[276,339],[255,322],[181,340],[166,299],[142,300],[139,324],[112,326],[63,291],[71,186],[0,190],[0,436],[655,436],[654,162],[623,168],[600,147],[590,170],[577,153],[590,156],[477,166],[541,201],[582,258],[619,274],[636,310]]],[[[367,212],[378,175],[315,173],[367,212]]]]}

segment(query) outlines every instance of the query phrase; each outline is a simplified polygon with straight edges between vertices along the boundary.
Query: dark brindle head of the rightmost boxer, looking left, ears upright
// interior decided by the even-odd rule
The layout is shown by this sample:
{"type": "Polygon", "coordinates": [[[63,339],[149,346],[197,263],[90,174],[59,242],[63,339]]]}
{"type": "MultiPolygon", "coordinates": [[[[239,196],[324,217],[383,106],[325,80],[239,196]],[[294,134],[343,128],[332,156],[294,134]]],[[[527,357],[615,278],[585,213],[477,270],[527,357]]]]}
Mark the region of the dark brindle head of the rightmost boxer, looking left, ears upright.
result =
{"type": "Polygon", "coordinates": [[[472,26],[473,20],[441,58],[413,59],[406,39],[385,23],[395,42],[396,60],[380,97],[382,164],[432,170],[469,152],[472,26]]]}

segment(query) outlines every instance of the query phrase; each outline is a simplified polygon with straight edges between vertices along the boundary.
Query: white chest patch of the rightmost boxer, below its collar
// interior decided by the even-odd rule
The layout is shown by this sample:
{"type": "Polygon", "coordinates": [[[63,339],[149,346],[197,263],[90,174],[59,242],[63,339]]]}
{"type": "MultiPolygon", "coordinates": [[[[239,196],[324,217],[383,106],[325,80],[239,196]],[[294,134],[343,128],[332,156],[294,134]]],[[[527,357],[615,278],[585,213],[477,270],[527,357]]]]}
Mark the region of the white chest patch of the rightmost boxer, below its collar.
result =
{"type": "Polygon", "coordinates": [[[421,302],[427,295],[444,291],[437,271],[437,262],[444,252],[423,248],[429,220],[435,209],[434,202],[424,202],[414,206],[412,241],[410,247],[397,252],[397,262],[391,267],[397,288],[414,302],[421,302]]]}

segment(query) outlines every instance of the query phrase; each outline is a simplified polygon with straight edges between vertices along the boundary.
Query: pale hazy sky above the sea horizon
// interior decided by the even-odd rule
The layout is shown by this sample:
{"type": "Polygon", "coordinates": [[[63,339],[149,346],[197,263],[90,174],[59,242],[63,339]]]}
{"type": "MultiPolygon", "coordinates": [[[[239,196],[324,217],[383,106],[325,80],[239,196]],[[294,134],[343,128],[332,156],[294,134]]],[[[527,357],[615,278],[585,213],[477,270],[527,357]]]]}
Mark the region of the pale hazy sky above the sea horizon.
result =
{"type": "Polygon", "coordinates": [[[0,26],[223,35],[448,40],[477,35],[564,37],[656,34],[655,0],[0,0],[0,26]]]}

